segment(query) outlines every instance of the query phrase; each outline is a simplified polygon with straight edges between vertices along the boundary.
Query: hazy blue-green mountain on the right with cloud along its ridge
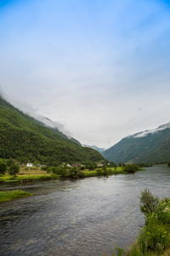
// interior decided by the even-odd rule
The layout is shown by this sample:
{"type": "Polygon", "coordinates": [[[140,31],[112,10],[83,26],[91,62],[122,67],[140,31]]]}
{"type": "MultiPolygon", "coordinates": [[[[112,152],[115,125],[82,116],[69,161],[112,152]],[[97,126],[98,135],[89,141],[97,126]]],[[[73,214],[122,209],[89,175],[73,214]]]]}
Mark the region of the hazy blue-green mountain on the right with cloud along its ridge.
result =
{"type": "Polygon", "coordinates": [[[170,160],[170,123],[124,137],[105,150],[105,159],[122,163],[161,164],[170,160]]]}

